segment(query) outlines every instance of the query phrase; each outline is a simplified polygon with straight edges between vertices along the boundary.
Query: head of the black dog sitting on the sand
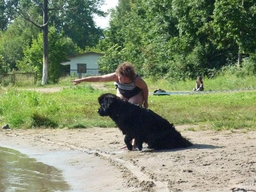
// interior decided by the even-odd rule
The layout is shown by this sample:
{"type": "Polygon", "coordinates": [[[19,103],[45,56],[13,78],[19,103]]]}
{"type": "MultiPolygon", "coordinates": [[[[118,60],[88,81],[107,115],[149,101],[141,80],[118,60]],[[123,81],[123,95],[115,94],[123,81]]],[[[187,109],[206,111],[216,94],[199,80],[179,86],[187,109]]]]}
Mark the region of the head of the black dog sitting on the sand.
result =
{"type": "Polygon", "coordinates": [[[101,95],[98,98],[98,102],[100,104],[100,108],[98,108],[98,113],[100,114],[100,116],[111,115],[112,105],[114,105],[117,100],[118,97],[111,93],[101,95]]]}

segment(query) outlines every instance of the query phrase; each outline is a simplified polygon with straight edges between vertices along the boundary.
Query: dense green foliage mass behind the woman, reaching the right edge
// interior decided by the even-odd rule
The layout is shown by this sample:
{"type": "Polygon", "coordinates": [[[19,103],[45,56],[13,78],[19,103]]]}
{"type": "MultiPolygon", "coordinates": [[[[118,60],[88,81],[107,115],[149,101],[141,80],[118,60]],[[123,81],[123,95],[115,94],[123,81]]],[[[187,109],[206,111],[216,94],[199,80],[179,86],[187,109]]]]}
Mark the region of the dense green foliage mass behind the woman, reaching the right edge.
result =
{"type": "Polygon", "coordinates": [[[255,52],[255,10],[253,0],[120,0],[99,44],[108,53],[100,66],[129,60],[145,76],[208,75],[234,63],[239,49],[255,52]]]}

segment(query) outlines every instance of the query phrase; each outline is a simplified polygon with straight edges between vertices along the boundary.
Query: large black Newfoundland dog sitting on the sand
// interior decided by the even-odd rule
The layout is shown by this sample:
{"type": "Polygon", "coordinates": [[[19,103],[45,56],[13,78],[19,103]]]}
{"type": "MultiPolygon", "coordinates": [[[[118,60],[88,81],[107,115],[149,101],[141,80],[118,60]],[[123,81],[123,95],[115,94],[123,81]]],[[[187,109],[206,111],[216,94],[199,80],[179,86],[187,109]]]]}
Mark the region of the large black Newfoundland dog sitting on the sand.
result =
{"type": "Polygon", "coordinates": [[[130,141],[135,138],[136,149],[142,150],[145,142],[155,150],[185,148],[192,143],[181,134],[166,119],[152,110],[124,101],[114,94],[103,94],[98,98],[100,116],[110,116],[125,135],[124,142],[128,150],[132,150],[130,141]]]}

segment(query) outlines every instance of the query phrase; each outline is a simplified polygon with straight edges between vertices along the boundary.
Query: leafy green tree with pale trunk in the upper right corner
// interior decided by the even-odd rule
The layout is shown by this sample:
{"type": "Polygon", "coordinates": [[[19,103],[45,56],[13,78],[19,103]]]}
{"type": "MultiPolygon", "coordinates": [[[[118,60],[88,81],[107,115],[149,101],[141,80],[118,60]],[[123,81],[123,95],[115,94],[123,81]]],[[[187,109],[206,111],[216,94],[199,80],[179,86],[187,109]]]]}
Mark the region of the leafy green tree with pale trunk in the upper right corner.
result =
{"type": "Polygon", "coordinates": [[[253,0],[216,0],[212,26],[213,42],[218,48],[234,46],[241,66],[242,53],[256,48],[256,2],[253,0]],[[234,42],[234,43],[233,43],[234,42]]]}

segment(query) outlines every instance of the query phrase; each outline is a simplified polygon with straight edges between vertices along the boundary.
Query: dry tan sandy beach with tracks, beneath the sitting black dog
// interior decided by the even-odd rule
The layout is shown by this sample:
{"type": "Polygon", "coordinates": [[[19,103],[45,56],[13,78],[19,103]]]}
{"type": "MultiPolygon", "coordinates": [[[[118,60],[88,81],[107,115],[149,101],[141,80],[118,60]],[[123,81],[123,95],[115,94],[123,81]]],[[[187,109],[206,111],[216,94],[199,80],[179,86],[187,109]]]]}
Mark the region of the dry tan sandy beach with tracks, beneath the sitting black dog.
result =
{"type": "Polygon", "coordinates": [[[119,149],[124,142],[118,128],[1,130],[0,146],[78,152],[79,156],[67,152],[62,162],[68,165],[70,177],[76,175],[72,179],[81,186],[77,191],[256,190],[256,131],[176,128],[194,146],[165,151],[150,151],[144,146],[142,152],[123,151],[119,149]],[[77,174],[74,168],[78,168],[77,174]]]}

